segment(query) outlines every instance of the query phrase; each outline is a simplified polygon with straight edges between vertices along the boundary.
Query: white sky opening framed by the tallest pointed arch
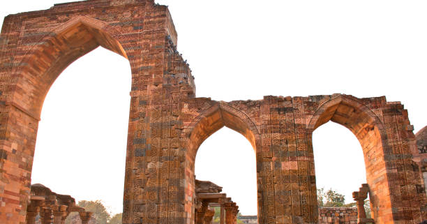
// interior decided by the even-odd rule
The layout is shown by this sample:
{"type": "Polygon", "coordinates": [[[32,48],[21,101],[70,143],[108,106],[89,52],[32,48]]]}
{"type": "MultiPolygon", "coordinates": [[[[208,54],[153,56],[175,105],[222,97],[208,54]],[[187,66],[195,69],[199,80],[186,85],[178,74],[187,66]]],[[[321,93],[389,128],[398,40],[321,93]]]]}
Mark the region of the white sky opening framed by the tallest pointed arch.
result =
{"type": "Polygon", "coordinates": [[[121,212],[128,73],[126,59],[99,48],[59,75],[46,96],[38,124],[31,184],[43,184],[77,201],[103,200],[113,213],[121,212]],[[100,68],[100,57],[110,63],[100,68]]]}

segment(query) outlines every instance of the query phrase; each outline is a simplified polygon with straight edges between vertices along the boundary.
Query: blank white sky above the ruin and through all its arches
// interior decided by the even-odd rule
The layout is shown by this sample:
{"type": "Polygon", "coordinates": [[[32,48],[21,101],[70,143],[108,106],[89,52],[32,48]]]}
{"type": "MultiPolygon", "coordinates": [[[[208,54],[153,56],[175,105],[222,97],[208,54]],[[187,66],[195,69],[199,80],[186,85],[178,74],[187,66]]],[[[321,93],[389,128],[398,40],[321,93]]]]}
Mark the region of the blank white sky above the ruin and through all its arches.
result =
{"type": "MultiPolygon", "coordinates": [[[[0,22],[61,2],[7,1],[0,22]]],[[[198,97],[387,96],[409,110],[415,133],[427,125],[426,1],[156,2],[170,6],[198,97]]],[[[129,91],[130,66],[117,54],[98,48],[69,66],[43,105],[33,183],[121,212],[129,91]]],[[[356,137],[329,122],[315,131],[313,144],[317,186],[351,202],[366,182],[356,137]]],[[[242,214],[256,214],[249,142],[223,128],[198,152],[197,179],[223,186],[242,214]]]]}

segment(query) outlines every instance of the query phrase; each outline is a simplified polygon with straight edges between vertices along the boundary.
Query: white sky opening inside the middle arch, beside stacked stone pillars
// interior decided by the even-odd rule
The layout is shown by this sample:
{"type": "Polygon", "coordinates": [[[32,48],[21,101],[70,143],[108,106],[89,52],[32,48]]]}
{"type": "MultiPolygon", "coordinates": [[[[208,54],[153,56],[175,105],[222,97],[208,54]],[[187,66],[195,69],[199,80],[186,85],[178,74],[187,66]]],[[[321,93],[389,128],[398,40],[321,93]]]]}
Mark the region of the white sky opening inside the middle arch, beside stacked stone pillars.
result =
{"type": "Polygon", "coordinates": [[[239,133],[221,128],[205,140],[195,158],[195,178],[223,187],[243,215],[257,215],[255,152],[239,133]]]}

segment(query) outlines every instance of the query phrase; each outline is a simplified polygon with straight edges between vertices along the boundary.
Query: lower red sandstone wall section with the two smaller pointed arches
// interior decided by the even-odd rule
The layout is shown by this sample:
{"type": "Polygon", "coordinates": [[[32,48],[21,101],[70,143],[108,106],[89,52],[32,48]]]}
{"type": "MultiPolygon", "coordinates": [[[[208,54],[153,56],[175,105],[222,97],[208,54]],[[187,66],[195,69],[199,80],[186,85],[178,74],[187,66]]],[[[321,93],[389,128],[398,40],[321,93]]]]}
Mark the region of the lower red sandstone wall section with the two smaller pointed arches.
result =
{"type": "MultiPolygon", "coordinates": [[[[260,223],[317,222],[311,136],[327,121],[349,128],[361,143],[377,223],[426,217],[424,185],[412,160],[416,149],[412,126],[398,102],[342,94],[265,96],[230,103],[194,98],[183,101],[180,119],[188,154],[186,183],[193,182],[198,147],[219,128],[236,130],[252,144],[257,156],[260,223]]],[[[186,186],[186,198],[192,198],[193,191],[193,186],[186,186]]],[[[190,207],[191,200],[186,205],[190,207]]]]}

